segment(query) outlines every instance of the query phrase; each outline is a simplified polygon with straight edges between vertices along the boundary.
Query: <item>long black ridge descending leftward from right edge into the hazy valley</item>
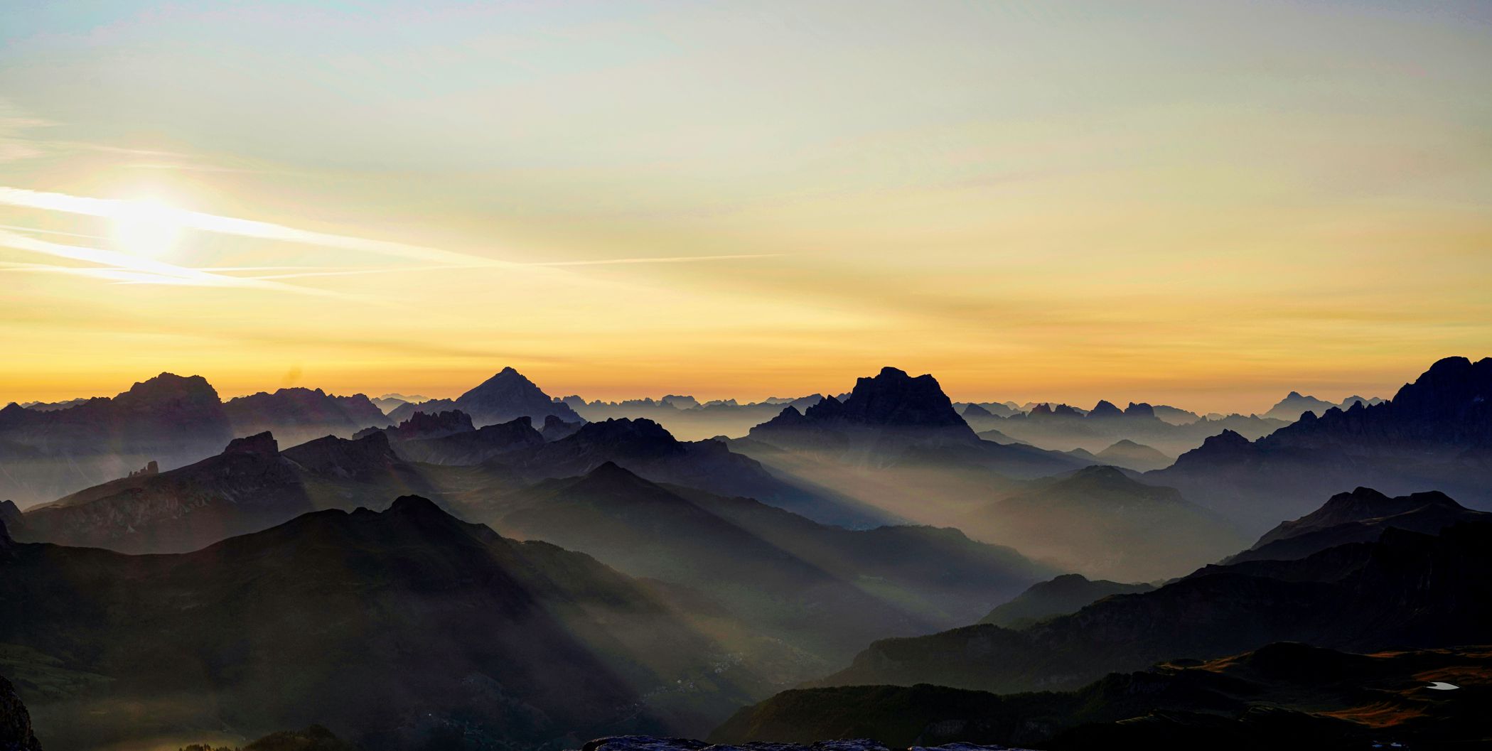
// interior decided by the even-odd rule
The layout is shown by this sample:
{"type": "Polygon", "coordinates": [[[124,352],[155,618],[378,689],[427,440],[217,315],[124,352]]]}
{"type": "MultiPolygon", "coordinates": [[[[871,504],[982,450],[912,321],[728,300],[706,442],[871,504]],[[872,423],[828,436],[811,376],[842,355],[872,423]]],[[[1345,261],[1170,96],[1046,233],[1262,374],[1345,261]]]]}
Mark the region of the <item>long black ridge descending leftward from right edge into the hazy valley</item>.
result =
{"type": "Polygon", "coordinates": [[[1024,630],[982,624],[880,641],[819,685],[1074,688],[1112,671],[1274,641],[1376,651],[1477,644],[1489,629],[1492,525],[1438,536],[1388,529],[1298,560],[1206,566],[1024,630]]]}

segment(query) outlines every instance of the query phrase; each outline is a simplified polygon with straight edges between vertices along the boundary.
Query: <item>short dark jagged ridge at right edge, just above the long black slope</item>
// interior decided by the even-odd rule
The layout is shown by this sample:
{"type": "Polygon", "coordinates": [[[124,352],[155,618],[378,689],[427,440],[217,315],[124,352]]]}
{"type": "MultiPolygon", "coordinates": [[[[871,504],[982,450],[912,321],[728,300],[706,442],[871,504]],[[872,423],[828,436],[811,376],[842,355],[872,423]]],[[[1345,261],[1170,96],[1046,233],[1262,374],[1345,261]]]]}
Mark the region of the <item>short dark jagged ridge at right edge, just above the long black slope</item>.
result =
{"type": "Polygon", "coordinates": [[[1458,522],[1492,522],[1492,514],[1471,511],[1440,492],[1389,498],[1359,487],[1337,493],[1316,511],[1271,529],[1228,563],[1300,559],[1329,547],[1377,539],[1389,527],[1434,535],[1458,522]]]}

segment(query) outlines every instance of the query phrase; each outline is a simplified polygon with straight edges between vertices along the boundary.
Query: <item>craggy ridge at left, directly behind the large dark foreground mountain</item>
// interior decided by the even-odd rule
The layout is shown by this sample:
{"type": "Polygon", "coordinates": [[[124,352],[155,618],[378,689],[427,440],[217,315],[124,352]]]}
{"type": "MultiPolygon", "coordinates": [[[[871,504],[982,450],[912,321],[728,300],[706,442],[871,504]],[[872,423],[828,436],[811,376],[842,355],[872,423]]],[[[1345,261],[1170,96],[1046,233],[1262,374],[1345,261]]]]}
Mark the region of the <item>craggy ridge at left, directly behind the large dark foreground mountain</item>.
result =
{"type": "Polygon", "coordinates": [[[218,456],[79,490],[25,511],[18,539],[181,553],[257,532],[306,511],[428,489],[383,434],[318,438],[279,450],[270,434],[233,440],[218,456]]]}

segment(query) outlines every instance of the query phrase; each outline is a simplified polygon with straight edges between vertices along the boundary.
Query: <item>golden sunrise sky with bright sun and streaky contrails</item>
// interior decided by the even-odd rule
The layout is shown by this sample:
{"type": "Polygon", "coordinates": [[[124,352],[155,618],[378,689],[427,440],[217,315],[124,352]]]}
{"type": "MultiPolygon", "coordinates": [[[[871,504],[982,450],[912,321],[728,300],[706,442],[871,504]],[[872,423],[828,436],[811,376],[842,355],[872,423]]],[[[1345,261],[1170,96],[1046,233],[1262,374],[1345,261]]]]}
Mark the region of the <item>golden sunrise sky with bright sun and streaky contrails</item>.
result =
{"type": "Polygon", "coordinates": [[[0,402],[1391,396],[1489,91],[1486,1],[0,3],[0,402]]]}

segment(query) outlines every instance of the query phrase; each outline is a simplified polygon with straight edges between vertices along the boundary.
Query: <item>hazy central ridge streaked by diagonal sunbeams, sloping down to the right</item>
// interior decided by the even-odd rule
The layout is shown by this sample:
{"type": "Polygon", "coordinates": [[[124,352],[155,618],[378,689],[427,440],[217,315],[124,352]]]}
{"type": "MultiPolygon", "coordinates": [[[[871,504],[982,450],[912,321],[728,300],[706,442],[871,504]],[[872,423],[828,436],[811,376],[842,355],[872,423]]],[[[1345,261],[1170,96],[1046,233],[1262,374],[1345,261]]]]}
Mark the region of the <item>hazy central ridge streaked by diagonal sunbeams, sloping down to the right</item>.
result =
{"type": "Polygon", "coordinates": [[[756,638],[828,660],[801,662],[789,681],[876,638],[968,623],[1049,571],[952,529],[831,527],[749,498],[658,486],[610,462],[471,514],[504,535],[697,589],[756,638]]]}

